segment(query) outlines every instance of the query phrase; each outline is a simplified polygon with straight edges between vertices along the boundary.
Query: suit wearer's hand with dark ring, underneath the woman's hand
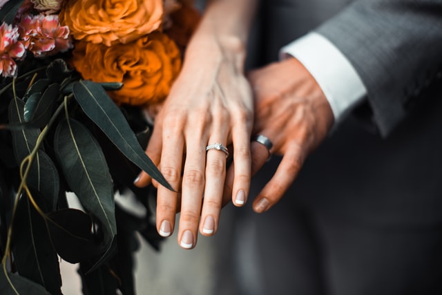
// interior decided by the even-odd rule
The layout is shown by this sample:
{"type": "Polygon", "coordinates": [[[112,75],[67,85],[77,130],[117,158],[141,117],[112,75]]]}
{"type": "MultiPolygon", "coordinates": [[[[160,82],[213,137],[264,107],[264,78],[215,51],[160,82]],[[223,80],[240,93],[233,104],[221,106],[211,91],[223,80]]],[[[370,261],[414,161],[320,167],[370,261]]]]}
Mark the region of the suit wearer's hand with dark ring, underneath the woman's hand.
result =
{"type": "MultiPolygon", "coordinates": [[[[271,153],[282,155],[276,173],[253,201],[253,210],[262,213],[294,182],[307,155],[327,136],[334,116],[315,79],[293,57],[251,71],[249,82],[255,97],[253,134],[268,137],[273,143],[271,153]]],[[[265,146],[252,142],[252,174],[268,157],[265,146]]],[[[233,170],[229,170],[224,202],[229,200],[232,180],[233,170]]]]}

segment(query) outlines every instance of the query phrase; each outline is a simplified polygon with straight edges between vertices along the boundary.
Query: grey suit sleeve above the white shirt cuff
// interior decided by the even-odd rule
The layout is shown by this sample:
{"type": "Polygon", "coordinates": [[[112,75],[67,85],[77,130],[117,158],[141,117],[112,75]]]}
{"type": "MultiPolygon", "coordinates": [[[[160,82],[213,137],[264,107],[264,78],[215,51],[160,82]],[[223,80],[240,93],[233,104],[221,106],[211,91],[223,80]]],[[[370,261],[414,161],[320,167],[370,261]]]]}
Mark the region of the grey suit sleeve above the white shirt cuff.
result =
{"type": "Polygon", "coordinates": [[[354,1],[316,32],[361,76],[382,135],[407,117],[426,88],[441,83],[441,0],[354,1]]]}

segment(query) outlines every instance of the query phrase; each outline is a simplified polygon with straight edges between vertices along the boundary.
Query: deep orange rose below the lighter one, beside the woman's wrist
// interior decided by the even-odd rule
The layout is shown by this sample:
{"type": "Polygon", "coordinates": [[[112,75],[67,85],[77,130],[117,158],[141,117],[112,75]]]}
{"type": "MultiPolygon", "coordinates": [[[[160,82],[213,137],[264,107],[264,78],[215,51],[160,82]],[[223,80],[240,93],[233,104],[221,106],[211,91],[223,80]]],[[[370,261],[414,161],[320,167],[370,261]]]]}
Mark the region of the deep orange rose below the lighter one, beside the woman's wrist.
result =
{"type": "Polygon", "coordinates": [[[123,82],[109,91],[117,104],[141,106],[161,102],[169,94],[181,68],[180,50],[161,32],[131,44],[104,46],[80,41],[73,50],[73,66],[84,79],[123,82]]]}

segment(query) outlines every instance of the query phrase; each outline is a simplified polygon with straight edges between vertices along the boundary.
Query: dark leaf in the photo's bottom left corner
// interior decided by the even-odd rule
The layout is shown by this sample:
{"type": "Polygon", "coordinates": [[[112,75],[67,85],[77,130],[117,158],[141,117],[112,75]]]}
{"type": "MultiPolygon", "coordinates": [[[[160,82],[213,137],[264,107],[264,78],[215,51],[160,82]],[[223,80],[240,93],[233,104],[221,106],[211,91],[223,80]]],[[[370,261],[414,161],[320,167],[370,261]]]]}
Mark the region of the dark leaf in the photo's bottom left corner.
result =
{"type": "Polygon", "coordinates": [[[18,274],[11,274],[0,269],[0,294],[1,295],[51,295],[44,287],[41,285],[23,278],[18,274]],[[8,277],[6,277],[8,276],[8,277]],[[11,285],[12,284],[12,285],[11,285]]]}

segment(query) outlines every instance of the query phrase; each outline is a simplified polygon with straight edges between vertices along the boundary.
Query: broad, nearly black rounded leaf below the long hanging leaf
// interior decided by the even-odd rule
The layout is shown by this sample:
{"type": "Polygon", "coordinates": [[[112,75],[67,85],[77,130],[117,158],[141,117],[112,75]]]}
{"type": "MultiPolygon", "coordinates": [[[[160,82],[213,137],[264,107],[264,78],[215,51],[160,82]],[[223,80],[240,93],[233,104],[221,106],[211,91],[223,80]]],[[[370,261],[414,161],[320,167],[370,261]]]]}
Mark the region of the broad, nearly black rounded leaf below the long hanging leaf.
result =
{"type": "Polygon", "coordinates": [[[93,241],[90,216],[77,209],[62,209],[48,214],[50,238],[57,253],[69,263],[80,263],[100,253],[93,241]],[[55,224],[53,223],[55,222],[55,224]]]}

